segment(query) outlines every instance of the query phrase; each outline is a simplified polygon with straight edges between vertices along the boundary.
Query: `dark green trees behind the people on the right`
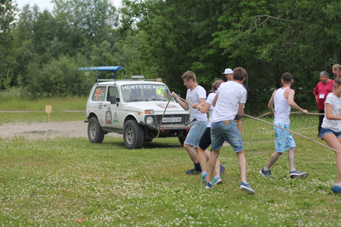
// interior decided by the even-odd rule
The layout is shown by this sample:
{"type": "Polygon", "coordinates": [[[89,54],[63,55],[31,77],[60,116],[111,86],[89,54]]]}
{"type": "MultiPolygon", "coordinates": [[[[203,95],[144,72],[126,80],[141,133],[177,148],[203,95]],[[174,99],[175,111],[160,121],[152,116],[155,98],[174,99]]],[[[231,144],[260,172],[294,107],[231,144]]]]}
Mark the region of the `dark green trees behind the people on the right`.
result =
{"type": "Polygon", "coordinates": [[[294,76],[297,103],[315,107],[318,75],[331,73],[341,50],[337,1],[123,2],[121,31],[145,31],[143,60],[154,63],[171,89],[185,93],[180,78],[187,70],[209,89],[225,68],[243,67],[252,112],[266,109],[284,72],[294,76]]]}

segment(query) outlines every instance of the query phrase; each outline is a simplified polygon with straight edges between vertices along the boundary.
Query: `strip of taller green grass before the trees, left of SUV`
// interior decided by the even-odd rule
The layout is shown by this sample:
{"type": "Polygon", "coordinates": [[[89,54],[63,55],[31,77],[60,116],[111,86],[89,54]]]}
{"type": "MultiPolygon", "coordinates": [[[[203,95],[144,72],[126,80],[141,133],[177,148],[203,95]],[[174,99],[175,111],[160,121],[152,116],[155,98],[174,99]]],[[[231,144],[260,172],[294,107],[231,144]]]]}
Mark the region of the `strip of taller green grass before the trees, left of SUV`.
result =
{"type": "Polygon", "coordinates": [[[88,97],[55,97],[39,100],[20,100],[18,97],[1,100],[0,110],[45,111],[46,105],[52,106],[52,111],[85,111],[88,97]]]}

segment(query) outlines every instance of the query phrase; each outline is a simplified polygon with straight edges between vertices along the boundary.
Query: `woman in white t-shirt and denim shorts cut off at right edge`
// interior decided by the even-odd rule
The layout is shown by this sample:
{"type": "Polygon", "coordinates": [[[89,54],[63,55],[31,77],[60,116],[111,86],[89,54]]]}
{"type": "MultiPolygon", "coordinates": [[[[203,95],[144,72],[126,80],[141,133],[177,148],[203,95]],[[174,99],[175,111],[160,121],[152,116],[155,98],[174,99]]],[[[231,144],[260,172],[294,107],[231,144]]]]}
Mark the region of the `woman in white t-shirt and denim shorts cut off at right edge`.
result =
{"type": "MultiPolygon", "coordinates": [[[[335,79],[335,89],[328,94],[325,105],[325,116],[321,125],[321,138],[329,147],[341,152],[341,78],[335,79]]],[[[341,154],[336,154],[338,174],[331,190],[341,193],[341,154]]]]}

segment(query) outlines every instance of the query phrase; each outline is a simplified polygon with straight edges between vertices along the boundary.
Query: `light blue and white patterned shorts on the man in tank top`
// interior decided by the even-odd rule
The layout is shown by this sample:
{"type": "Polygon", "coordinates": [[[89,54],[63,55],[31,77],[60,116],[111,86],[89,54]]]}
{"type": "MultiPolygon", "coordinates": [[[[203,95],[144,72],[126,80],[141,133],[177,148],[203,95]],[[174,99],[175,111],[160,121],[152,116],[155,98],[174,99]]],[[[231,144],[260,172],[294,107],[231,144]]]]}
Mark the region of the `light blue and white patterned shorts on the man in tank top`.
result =
{"type": "MultiPolygon", "coordinates": [[[[288,124],[275,123],[275,125],[290,130],[290,125],[288,124]]],[[[283,130],[282,128],[273,126],[273,130],[275,130],[275,151],[279,153],[283,153],[290,148],[296,147],[295,140],[291,133],[283,130]]]]}

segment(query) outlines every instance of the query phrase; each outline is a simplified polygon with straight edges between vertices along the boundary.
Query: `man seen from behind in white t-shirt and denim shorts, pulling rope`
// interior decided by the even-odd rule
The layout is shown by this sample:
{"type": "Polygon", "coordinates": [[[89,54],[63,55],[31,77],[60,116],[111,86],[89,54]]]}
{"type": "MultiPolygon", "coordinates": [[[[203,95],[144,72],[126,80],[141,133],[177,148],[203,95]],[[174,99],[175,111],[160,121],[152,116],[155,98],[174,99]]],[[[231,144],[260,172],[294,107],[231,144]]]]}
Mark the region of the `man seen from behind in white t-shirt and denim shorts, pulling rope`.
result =
{"type": "Polygon", "coordinates": [[[241,83],[246,78],[246,70],[237,67],[233,70],[233,81],[220,85],[213,100],[213,116],[211,121],[212,152],[208,160],[208,176],[205,188],[212,188],[212,173],[220,153],[221,143],[225,140],[233,148],[238,157],[238,165],[241,175],[240,189],[248,194],[255,191],[246,181],[246,158],[240,133],[234,121],[235,116],[244,114],[244,103],[246,102],[246,90],[241,83]],[[239,107],[237,109],[237,104],[239,107]]]}

